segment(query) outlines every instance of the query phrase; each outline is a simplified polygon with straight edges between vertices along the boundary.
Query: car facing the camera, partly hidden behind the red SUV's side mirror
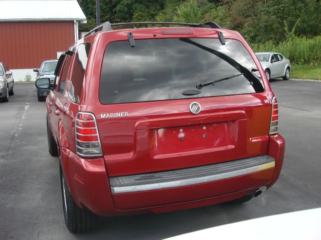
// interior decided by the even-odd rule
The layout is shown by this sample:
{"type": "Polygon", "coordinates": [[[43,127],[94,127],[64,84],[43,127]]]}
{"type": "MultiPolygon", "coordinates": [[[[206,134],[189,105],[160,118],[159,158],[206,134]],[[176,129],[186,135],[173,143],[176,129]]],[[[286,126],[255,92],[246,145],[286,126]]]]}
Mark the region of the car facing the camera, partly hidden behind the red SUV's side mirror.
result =
{"type": "MultiPolygon", "coordinates": [[[[54,71],[57,65],[58,59],[55,60],[44,60],[41,63],[40,68],[34,68],[34,71],[37,72],[36,80],[41,77],[49,77],[53,83],[55,79],[54,71]]],[[[49,89],[37,88],[37,97],[38,101],[46,100],[48,96],[49,89]]]]}

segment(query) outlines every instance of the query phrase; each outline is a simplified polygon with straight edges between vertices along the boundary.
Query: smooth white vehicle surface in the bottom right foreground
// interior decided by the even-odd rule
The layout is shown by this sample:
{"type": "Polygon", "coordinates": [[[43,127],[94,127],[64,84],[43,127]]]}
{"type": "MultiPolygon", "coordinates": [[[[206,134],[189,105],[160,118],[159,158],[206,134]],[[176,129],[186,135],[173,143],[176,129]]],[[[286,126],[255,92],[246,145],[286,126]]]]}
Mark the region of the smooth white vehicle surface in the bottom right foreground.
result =
{"type": "MultiPolygon", "coordinates": [[[[264,216],[225,225],[173,236],[164,240],[212,240],[215,238],[248,239],[260,236],[261,240],[270,239],[321,239],[321,208],[296,210],[271,216],[264,216]],[[262,234],[262,226],[269,226],[273,231],[262,234]]],[[[217,223],[216,223],[217,224],[217,223]]],[[[218,223],[220,224],[220,223],[218,223]]]]}

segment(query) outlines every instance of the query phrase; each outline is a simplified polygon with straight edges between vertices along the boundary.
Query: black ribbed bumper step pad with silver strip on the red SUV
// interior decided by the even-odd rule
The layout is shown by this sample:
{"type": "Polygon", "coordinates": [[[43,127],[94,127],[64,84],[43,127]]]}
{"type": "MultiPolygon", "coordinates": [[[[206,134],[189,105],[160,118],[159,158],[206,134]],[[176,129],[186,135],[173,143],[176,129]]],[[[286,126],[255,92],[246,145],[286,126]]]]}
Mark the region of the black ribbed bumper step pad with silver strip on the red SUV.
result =
{"type": "Polygon", "coordinates": [[[109,178],[112,193],[167,189],[242,176],[275,166],[275,159],[260,155],[210,165],[109,178]]]}

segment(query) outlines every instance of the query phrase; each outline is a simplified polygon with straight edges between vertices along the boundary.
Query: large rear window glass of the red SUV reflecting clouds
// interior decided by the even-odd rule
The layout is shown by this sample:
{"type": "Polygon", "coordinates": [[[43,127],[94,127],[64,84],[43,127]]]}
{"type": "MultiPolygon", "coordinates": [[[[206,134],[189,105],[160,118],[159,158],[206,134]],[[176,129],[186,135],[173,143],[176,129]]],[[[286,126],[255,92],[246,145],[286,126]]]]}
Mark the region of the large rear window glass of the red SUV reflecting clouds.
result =
{"type": "Polygon", "coordinates": [[[216,38],[163,38],[114,41],[104,53],[99,98],[103,104],[255,93],[264,90],[244,45],[216,38]],[[197,83],[209,84],[196,95],[197,83]],[[238,75],[238,76],[236,76],[238,75]]]}

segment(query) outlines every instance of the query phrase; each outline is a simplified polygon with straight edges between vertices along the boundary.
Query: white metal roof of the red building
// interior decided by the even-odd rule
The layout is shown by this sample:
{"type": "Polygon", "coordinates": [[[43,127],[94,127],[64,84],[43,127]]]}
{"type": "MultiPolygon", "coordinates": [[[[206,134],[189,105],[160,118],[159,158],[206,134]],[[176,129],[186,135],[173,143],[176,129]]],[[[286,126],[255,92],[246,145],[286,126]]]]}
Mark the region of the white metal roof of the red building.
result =
{"type": "Polygon", "coordinates": [[[77,0],[0,0],[0,21],[86,21],[77,0]]]}

